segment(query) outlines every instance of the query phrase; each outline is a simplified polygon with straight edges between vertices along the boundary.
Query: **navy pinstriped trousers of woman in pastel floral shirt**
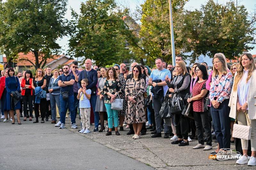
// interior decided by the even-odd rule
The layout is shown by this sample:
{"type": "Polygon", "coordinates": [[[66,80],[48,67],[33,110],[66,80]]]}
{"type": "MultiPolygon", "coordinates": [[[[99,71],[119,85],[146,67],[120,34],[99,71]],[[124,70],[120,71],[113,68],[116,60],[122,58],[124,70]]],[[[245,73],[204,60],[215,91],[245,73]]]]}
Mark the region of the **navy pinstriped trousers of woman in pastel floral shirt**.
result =
{"type": "Polygon", "coordinates": [[[230,148],[230,107],[228,107],[228,102],[229,99],[224,100],[218,108],[211,106],[212,122],[220,148],[230,148]]]}

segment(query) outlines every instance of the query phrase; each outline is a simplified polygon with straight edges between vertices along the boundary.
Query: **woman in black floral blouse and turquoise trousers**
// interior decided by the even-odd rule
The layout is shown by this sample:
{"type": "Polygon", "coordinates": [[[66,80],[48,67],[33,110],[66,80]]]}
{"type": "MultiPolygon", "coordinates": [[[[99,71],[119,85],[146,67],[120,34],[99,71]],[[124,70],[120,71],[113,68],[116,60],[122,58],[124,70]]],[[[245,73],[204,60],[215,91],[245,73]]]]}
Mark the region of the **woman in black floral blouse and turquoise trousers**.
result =
{"type": "Polygon", "coordinates": [[[116,70],[109,67],[107,70],[107,79],[104,84],[103,96],[105,96],[104,103],[108,114],[108,133],[106,136],[112,135],[112,127],[114,120],[114,127],[116,135],[120,135],[117,131],[118,127],[118,111],[111,109],[111,103],[116,99],[117,93],[121,94],[120,80],[116,76],[116,70]]]}

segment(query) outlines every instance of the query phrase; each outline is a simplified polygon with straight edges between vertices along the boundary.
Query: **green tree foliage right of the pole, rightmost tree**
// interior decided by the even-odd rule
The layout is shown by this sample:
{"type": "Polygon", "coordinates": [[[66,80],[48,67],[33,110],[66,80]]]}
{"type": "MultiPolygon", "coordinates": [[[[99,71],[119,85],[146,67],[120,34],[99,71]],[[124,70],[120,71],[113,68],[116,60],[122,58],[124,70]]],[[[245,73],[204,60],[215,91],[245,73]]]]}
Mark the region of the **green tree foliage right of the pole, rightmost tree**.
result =
{"type": "Polygon", "coordinates": [[[209,0],[200,10],[187,11],[187,16],[184,30],[190,30],[192,62],[201,54],[213,57],[223,53],[228,59],[234,59],[245,50],[253,49],[255,21],[249,19],[244,5],[236,7],[233,1],[217,4],[209,0]]]}

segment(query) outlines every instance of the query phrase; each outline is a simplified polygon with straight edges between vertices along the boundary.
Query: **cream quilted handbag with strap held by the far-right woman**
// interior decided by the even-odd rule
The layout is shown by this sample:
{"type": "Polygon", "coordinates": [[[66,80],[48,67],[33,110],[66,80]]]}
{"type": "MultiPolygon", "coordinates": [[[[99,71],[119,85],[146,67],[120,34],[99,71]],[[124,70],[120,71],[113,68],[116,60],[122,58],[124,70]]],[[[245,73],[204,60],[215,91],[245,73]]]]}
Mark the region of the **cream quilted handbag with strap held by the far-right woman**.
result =
{"type": "Polygon", "coordinates": [[[240,138],[240,139],[244,139],[244,140],[251,140],[252,127],[250,124],[250,120],[248,118],[248,114],[245,112],[246,119],[248,120],[250,126],[236,124],[237,116],[238,116],[238,112],[236,114],[236,120],[235,120],[235,124],[233,126],[232,137],[236,137],[236,138],[240,138]]]}

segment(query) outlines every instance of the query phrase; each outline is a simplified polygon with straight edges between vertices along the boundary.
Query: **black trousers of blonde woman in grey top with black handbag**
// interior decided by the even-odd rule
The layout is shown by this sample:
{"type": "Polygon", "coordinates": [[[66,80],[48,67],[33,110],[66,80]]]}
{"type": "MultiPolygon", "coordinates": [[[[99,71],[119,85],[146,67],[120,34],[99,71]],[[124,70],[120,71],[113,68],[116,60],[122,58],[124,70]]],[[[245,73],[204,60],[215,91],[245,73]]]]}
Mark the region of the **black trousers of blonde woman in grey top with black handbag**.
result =
{"type": "Polygon", "coordinates": [[[179,138],[184,138],[188,140],[188,117],[183,116],[182,114],[174,115],[176,123],[176,133],[179,138]],[[180,121],[180,123],[179,123],[180,121]]]}

